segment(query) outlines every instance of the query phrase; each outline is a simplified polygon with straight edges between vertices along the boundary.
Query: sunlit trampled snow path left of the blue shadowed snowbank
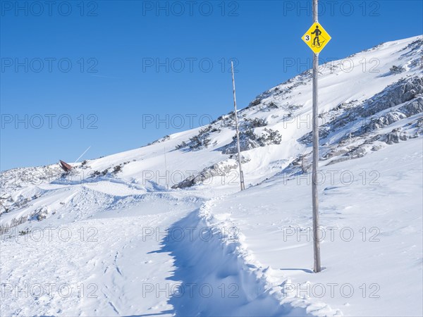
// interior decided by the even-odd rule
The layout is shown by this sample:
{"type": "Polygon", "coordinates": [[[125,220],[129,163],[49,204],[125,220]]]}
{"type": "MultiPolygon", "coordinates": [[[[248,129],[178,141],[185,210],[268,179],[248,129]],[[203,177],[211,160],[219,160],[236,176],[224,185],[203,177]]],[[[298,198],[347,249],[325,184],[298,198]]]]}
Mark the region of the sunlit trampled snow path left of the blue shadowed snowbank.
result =
{"type": "MultiPolygon", "coordinates": [[[[93,205],[92,197],[85,192],[83,199],[93,205]]],[[[170,293],[157,297],[147,292],[149,285],[168,284],[174,262],[168,254],[157,253],[160,240],[150,232],[170,226],[200,202],[188,196],[147,194],[117,210],[70,223],[63,218],[40,222],[30,226],[27,235],[4,235],[2,316],[171,311],[170,293]]]]}

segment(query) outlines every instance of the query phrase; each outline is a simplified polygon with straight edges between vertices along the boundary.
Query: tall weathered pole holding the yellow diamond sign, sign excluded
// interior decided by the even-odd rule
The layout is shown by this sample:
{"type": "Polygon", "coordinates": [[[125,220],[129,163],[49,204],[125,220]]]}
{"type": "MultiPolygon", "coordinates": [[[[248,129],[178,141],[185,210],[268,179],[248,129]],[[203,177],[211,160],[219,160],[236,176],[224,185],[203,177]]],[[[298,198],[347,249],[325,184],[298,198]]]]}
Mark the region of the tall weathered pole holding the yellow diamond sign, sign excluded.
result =
{"type": "MultiPolygon", "coordinates": [[[[319,22],[317,0],[313,0],[314,23],[319,22]]],[[[319,197],[317,192],[317,168],[319,168],[319,120],[317,108],[317,68],[319,54],[313,54],[313,168],[312,168],[312,196],[313,196],[313,242],[314,242],[314,272],[321,271],[320,265],[320,230],[319,230],[319,197]]]]}

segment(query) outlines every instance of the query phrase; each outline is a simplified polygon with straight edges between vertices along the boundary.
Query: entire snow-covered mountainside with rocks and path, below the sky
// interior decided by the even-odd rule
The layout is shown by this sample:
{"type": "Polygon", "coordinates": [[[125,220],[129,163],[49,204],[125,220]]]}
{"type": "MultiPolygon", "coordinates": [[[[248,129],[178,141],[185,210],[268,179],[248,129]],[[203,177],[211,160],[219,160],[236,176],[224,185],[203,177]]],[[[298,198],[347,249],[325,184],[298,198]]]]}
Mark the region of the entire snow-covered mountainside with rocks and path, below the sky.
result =
{"type": "Polygon", "coordinates": [[[68,175],[2,172],[2,315],[421,316],[422,46],[319,69],[322,273],[307,71],[239,111],[244,192],[233,113],[68,175]]]}

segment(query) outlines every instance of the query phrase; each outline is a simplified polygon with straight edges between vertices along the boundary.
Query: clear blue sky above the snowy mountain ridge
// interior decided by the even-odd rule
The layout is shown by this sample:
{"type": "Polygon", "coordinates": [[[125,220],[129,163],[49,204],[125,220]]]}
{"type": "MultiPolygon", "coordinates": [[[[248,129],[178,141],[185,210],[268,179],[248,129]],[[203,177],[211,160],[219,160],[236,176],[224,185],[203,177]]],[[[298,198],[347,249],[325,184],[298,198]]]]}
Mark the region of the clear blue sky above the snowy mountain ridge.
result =
{"type": "MultiPolygon", "coordinates": [[[[421,35],[423,1],[321,1],[321,59],[421,35]]],[[[1,1],[1,170],[141,147],[306,70],[309,1],[1,1]],[[294,66],[291,66],[294,63],[294,66]],[[192,119],[190,119],[192,118],[192,119]],[[157,121],[159,119],[159,121],[157,121]]]]}

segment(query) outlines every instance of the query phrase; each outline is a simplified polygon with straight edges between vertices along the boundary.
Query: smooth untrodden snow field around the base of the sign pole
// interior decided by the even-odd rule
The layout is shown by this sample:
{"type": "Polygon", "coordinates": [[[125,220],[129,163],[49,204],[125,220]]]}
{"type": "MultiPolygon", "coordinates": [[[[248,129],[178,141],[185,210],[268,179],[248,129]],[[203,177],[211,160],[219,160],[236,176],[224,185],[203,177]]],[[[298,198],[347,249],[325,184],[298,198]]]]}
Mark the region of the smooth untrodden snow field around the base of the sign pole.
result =
{"type": "MultiPolygon", "coordinates": [[[[210,223],[245,236],[269,287],[346,316],[422,313],[422,139],[321,169],[324,271],[312,273],[309,178],[279,176],[209,206],[210,223]],[[323,180],[324,178],[324,180],[323,180]],[[319,303],[319,304],[317,304],[319,303]]],[[[248,261],[247,261],[248,262],[248,261]]],[[[287,295],[288,296],[288,295],[287,295]]]]}

